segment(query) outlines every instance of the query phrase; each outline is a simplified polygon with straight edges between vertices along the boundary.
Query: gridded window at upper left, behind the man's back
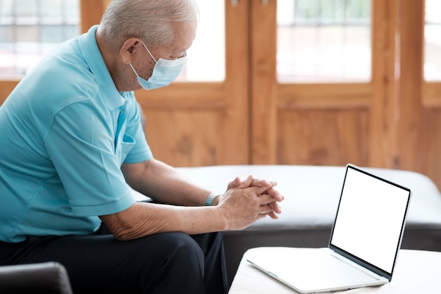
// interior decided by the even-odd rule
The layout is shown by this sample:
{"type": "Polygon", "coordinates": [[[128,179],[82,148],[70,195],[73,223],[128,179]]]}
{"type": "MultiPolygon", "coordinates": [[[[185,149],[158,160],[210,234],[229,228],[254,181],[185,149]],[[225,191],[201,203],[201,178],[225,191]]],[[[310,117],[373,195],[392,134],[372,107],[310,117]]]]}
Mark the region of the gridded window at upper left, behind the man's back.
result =
{"type": "Polygon", "coordinates": [[[0,79],[23,77],[61,42],[79,34],[79,0],[0,1],[0,79]]]}

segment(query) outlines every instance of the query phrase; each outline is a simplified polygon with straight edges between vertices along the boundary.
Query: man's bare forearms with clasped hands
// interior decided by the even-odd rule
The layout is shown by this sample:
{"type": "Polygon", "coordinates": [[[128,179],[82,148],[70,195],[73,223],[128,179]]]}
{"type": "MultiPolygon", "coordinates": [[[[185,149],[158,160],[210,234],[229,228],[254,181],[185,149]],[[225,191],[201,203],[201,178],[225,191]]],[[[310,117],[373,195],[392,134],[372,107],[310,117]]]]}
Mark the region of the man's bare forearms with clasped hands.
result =
{"type": "Polygon", "coordinates": [[[170,166],[152,159],[143,164],[124,164],[123,173],[135,190],[159,202],[137,202],[123,212],[100,216],[113,235],[120,240],[140,238],[153,233],[180,231],[188,234],[237,230],[257,219],[280,213],[276,202],[283,197],[273,183],[251,177],[235,179],[230,188],[218,197],[218,205],[205,207],[209,191],[187,183],[170,166]]]}

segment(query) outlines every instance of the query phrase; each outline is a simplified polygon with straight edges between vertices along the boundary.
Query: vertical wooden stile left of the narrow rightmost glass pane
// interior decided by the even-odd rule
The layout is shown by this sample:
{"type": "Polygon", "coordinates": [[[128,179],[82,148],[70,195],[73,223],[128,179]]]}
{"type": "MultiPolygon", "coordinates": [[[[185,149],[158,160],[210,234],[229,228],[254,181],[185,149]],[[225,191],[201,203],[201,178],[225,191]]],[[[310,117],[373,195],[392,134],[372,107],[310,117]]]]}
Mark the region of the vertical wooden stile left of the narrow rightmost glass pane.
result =
{"type": "Polygon", "coordinates": [[[399,113],[397,167],[426,172],[426,133],[423,125],[423,1],[399,1],[399,113]]]}

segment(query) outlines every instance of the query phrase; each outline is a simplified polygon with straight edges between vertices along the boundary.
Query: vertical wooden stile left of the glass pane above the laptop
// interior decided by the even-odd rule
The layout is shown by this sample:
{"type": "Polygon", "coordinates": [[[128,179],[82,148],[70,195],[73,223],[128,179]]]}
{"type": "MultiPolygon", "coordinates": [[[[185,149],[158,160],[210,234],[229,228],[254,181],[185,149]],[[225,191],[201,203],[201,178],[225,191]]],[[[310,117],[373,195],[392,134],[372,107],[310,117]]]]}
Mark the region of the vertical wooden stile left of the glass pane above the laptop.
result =
{"type": "Polygon", "coordinates": [[[251,11],[251,164],[277,159],[275,1],[249,0],[251,11]]]}

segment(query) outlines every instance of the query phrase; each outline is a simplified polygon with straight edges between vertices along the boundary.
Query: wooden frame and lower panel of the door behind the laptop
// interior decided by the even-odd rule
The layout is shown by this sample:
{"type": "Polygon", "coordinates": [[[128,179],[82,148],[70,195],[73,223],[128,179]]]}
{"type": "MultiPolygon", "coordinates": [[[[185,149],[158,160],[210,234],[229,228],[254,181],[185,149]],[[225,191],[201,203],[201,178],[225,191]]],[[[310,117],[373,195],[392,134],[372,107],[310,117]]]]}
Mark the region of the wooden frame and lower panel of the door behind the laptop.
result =
{"type": "Polygon", "coordinates": [[[278,82],[277,1],[251,7],[251,162],[392,167],[395,1],[372,1],[371,80],[349,83],[278,82]]]}

